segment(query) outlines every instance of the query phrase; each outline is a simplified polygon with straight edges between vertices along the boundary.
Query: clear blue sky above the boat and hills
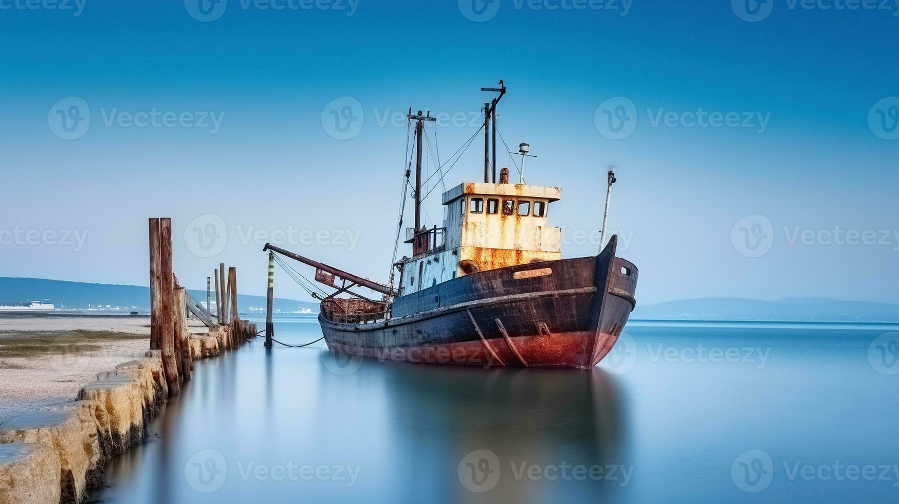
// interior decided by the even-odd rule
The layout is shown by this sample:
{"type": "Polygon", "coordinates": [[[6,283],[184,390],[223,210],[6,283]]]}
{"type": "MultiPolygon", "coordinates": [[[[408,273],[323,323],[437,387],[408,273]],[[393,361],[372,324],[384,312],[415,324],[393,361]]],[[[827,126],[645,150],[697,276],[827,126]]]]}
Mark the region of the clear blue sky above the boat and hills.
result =
{"type": "MultiPolygon", "coordinates": [[[[619,166],[610,227],[630,237],[619,255],[640,269],[639,302],[899,302],[895,12],[768,0],[770,14],[748,22],[739,2],[634,0],[621,15],[620,2],[549,10],[571,2],[500,0],[496,11],[486,5],[493,17],[474,22],[466,1],[275,10],[227,0],[208,22],[191,16],[192,0],[86,0],[79,15],[0,1],[12,7],[0,9],[0,275],[147,284],[147,217],[171,216],[176,273],[191,287],[225,262],[238,267],[242,292],[263,293],[265,255],[245,235],[291,226],[336,243],[285,247],[386,280],[406,129],[380,122],[410,106],[474,114],[489,97],[479,88],[502,78],[503,138],[528,141],[539,156],[528,162],[531,184],[563,188],[550,220],[572,231],[565,257],[596,252],[574,231],[599,228],[605,168],[619,166]],[[79,138],[61,139],[53,122],[71,103],[57,103],[71,96],[91,121],[79,138]],[[335,139],[327,107],[346,96],[360,103],[362,128],[335,139]],[[634,104],[636,125],[610,139],[597,109],[618,96],[634,104]],[[754,122],[687,127],[680,114],[700,109],[754,122]],[[120,115],[154,110],[191,121],[212,112],[220,124],[214,133],[140,128],[120,115]],[[656,121],[665,112],[678,117],[656,121]],[[227,229],[216,257],[191,252],[188,223],[206,214],[227,229]],[[758,218],[737,224],[754,214],[770,230],[758,218]],[[873,231],[882,244],[838,245],[819,233],[836,227],[873,231]],[[31,244],[16,229],[86,237],[83,247],[43,234],[31,244]],[[358,236],[356,247],[338,229],[358,236]],[[770,250],[747,257],[758,248],[739,242],[760,229],[770,250]],[[806,231],[814,238],[796,238],[806,231]]],[[[441,161],[477,130],[465,122],[431,130],[441,161]]],[[[482,148],[476,139],[448,187],[481,176],[482,148]]],[[[429,223],[441,218],[440,191],[429,223]]],[[[280,278],[279,296],[307,299],[280,278]]]]}

